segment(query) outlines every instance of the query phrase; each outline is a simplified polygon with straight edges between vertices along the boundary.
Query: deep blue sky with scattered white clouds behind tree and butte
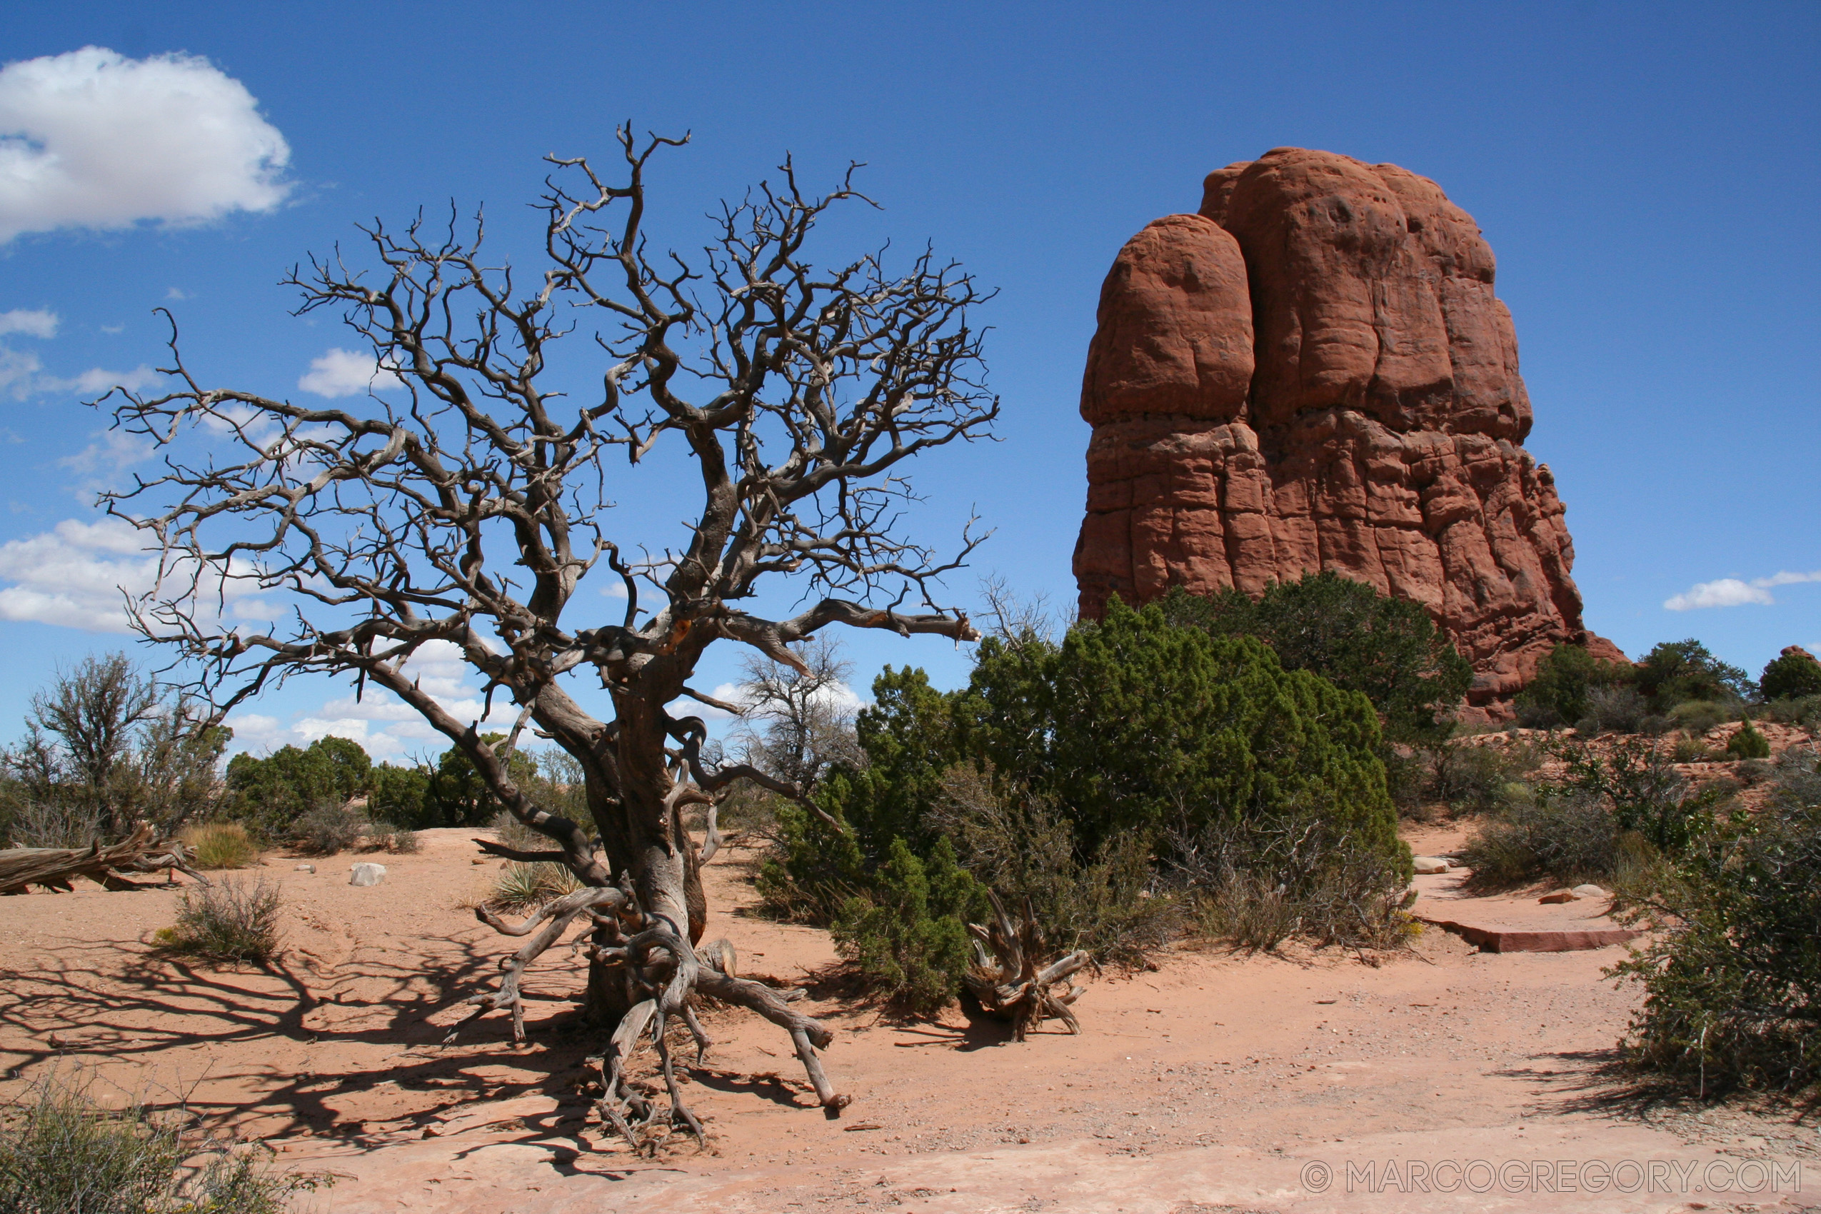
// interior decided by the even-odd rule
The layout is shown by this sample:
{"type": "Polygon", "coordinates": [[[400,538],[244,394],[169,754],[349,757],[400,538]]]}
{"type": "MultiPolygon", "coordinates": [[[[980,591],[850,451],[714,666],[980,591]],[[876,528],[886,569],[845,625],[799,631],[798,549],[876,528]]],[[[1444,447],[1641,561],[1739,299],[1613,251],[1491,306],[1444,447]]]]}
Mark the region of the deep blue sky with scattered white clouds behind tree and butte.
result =
{"type": "MultiPolygon", "coordinates": [[[[626,118],[692,133],[652,175],[681,248],[785,151],[823,182],[852,158],[883,211],[832,226],[830,257],[931,240],[1000,289],[1000,442],[916,470],[923,535],[969,510],[996,530],[980,573],[1073,604],[1107,264],[1209,169],[1304,146],[1431,177],[1486,231],[1592,628],[1630,653],[1694,635],[1754,673],[1821,644],[1821,582],[1777,579],[1821,572],[1814,4],[22,5],[0,60],[0,737],[58,663],[129,641],[109,586],[137,555],[91,502],[148,464],[80,400],[158,364],[153,308],[209,384],[297,397],[319,364],[333,388],[353,342],[290,315],[297,258],[450,200],[528,253],[539,157],[605,157],[626,118]],[[138,64],[144,95],[47,100],[98,69],[27,60],[80,47],[195,58],[138,64]],[[189,100],[157,104],[166,78],[189,100]],[[67,187],[35,177],[47,155],[67,187]]],[[[663,491],[625,510],[659,542],[679,513],[663,491]]],[[[972,601],[972,575],[951,586],[972,601]]],[[[852,655],[861,686],[967,666],[934,639],[852,655]]],[[[701,684],[736,675],[716,661],[701,684]]],[[[308,735],[344,697],[291,684],[242,733],[308,735]]]]}

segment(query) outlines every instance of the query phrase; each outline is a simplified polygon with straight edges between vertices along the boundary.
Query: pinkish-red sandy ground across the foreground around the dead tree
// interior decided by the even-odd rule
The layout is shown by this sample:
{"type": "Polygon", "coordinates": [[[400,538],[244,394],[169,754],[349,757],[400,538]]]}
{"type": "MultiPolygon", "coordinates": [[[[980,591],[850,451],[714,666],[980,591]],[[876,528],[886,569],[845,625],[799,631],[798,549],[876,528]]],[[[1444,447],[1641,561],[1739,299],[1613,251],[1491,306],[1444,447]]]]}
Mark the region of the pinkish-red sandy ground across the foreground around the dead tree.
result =
{"type": "MultiPolygon", "coordinates": [[[[1730,1176],[1726,1165],[1748,1165],[1750,1185],[1777,1163],[1799,1165],[1803,1192],[1821,1194],[1821,1136],[1788,1112],[1628,1098],[1602,1070],[1635,1005],[1601,977],[1619,948],[1493,956],[1433,928],[1377,966],[1340,950],[1182,948],[1155,972],[1089,981],[1082,1036],[1014,1045],[958,1010],[898,1023],[843,997],[825,977],[827,934],[747,912],[756,899],[738,850],[708,870],[710,934],[734,941],[745,972],[812,986],[807,1007],[836,1030],[829,1074],[854,1103],[827,1118],[783,1034],[714,1012],[717,1045],[687,1087],[708,1150],[674,1139],[636,1158],[577,1090],[599,1037],[568,1001],[579,977],[566,950],[526,983],[528,1047],[512,1047],[501,1016],[437,1045],[459,1014],[452,1001],[492,981],[514,943],[464,908],[495,872],[470,863],[470,834],[424,832],[419,855],[375,857],[390,870],[375,888],[348,885],[359,857],[315,861],[315,874],[271,857],[260,872],[286,899],[271,972],[158,956],[151,934],[171,923],[175,892],[0,901],[0,1087],[80,1065],[97,1092],[182,1092],[268,1139],[280,1163],[335,1172],[311,1209],[344,1214],[1821,1205],[1788,1192],[1788,1172],[1781,1192],[1695,1190],[1730,1176]],[[1451,1192],[1409,1176],[1411,1161],[1448,1159],[1504,1172],[1470,1170],[1451,1192]],[[1633,1161],[1617,1179],[1635,1192],[1561,1190],[1559,1165],[1588,1159],[1633,1161]],[[1386,1161],[1399,1165],[1389,1183],[1386,1161]],[[1373,1163],[1373,1179],[1349,1183],[1349,1163],[1373,1163]]],[[[1459,830],[1411,837],[1419,854],[1459,841],[1459,830]]],[[[1455,881],[1422,879],[1419,908],[1466,910],[1455,881]]],[[[1511,901],[1517,914],[1524,899],[1511,901]]],[[[1597,908],[1524,901],[1522,914],[1597,908]]],[[[1442,1167],[1440,1183],[1453,1176],[1442,1167]]]]}

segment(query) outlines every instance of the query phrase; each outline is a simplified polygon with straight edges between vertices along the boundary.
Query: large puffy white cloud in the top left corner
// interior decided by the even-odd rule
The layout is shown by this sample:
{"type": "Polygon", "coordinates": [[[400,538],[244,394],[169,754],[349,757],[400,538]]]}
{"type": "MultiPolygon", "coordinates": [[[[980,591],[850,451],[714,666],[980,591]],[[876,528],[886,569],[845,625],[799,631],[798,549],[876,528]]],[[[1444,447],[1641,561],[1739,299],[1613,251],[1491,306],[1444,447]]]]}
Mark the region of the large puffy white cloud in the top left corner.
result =
{"type": "Polygon", "coordinates": [[[270,211],[290,158],[246,86],[206,58],[89,46],[0,69],[0,242],[270,211]]]}

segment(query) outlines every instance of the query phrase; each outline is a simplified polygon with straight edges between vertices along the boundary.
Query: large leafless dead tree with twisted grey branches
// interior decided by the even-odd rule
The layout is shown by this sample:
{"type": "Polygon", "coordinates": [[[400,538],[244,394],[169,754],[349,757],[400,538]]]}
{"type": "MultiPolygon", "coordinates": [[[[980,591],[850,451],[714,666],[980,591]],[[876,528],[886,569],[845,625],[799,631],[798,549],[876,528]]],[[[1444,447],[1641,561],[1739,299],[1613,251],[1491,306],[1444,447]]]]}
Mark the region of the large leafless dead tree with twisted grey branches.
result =
{"type": "MultiPolygon", "coordinates": [[[[900,464],[985,437],[998,417],[967,315],[985,295],[927,249],[898,269],[883,251],[814,266],[805,244],[818,220],[863,200],[852,167],[814,197],[787,160],[776,184],[721,209],[699,258],[657,257],[646,166],[683,140],[617,135],[617,180],[552,160],[535,275],[483,258],[479,217],[461,233],[453,217],[446,233],[375,222],[362,229],[371,275],[341,253],[290,275],[300,311],[342,309],[377,373],[397,379],[395,397],[310,408],[204,388],[173,324],[173,389],[115,406],[118,428],[158,444],[164,471],[109,508],[164,553],[140,628],[188,659],[198,693],[226,712],[320,672],[410,704],[552,843],[495,850],[565,863],[603,892],[588,916],[586,899],[563,912],[565,926],[592,926],[592,1012],[636,1034],[639,1008],[657,1032],[692,992],[748,1007],[790,1032],[821,1101],[838,1107],[814,1056],[827,1032],[779,1019],[772,992],[692,948],[707,906],[683,808],[712,812],[738,779],[798,790],[705,763],[703,721],[672,704],[716,703],[688,684],[716,641],[801,670],[790,644],[832,624],[976,637],[934,593],[978,537],[963,528],[949,557],[907,537],[914,497],[900,464]],[[577,399],[583,384],[597,389],[577,399]],[[608,533],[614,497],[632,493],[687,515],[679,542],[634,559],[632,537],[608,533]],[[577,599],[597,566],[625,593],[610,617],[595,584],[577,599]],[[222,579],[286,595],[291,621],[224,624],[222,579]],[[810,606],[788,619],[743,610],[767,581],[810,606]],[[519,728],[581,763],[605,854],[532,803],[477,721],[417,686],[408,663],[432,642],[455,646],[488,704],[510,699],[519,728]],[[575,693],[583,672],[606,692],[605,719],[575,693]]],[[[539,950],[555,943],[546,936],[539,950]]],[[[486,999],[517,1007],[504,988],[486,999]]],[[[679,1103],[670,1116],[688,1123],[679,1103]]]]}

